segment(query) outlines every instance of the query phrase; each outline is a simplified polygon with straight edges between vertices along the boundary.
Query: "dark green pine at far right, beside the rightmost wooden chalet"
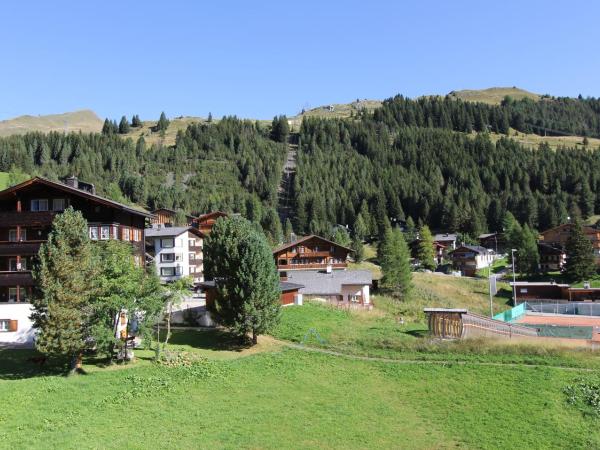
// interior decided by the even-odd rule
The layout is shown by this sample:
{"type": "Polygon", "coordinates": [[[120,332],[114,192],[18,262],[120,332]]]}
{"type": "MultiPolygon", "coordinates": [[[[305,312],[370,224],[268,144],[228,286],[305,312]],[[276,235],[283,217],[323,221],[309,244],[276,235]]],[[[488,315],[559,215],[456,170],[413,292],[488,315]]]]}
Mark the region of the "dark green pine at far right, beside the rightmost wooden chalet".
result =
{"type": "Polygon", "coordinates": [[[589,279],[596,273],[592,242],[585,235],[579,220],[575,220],[569,230],[566,244],[567,263],[565,274],[572,281],[589,279]]]}

